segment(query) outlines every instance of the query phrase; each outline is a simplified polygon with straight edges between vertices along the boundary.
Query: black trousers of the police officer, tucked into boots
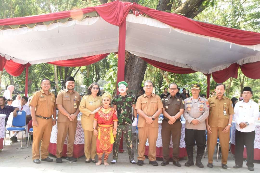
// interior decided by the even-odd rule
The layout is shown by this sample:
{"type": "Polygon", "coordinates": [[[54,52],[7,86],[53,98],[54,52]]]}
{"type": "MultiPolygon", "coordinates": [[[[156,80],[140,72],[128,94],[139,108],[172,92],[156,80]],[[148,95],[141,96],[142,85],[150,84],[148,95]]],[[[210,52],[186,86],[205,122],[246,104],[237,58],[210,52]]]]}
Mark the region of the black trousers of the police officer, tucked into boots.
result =
{"type": "Polygon", "coordinates": [[[193,130],[185,129],[185,138],[186,151],[187,154],[193,154],[193,147],[195,141],[197,144],[197,154],[204,154],[206,147],[206,130],[193,130]]]}

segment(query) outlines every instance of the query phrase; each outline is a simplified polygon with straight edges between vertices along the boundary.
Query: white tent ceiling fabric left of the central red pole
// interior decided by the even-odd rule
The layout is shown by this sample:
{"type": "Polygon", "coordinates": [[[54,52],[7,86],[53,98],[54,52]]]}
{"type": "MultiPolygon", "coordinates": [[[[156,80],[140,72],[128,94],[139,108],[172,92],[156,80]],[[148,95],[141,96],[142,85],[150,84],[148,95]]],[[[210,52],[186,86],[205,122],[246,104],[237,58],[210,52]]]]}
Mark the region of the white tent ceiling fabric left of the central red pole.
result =
{"type": "Polygon", "coordinates": [[[39,64],[117,52],[118,40],[119,26],[98,16],[48,26],[2,30],[0,53],[17,63],[39,64]]]}

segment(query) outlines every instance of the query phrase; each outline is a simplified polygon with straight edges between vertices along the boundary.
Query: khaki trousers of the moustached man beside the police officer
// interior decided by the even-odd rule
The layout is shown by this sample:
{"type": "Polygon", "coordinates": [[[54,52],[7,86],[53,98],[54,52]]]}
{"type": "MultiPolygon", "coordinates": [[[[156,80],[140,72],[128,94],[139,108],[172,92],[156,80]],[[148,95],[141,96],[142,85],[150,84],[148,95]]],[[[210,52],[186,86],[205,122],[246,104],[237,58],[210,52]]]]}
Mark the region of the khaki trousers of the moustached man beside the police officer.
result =
{"type": "Polygon", "coordinates": [[[215,151],[215,147],[217,144],[217,138],[219,138],[219,143],[221,146],[221,152],[222,152],[222,160],[221,162],[223,164],[227,164],[228,161],[228,152],[229,152],[229,136],[230,131],[227,133],[223,133],[222,130],[224,128],[222,127],[211,127],[212,134],[209,133],[207,138],[207,149],[208,149],[208,162],[213,162],[213,154],[215,151]]]}

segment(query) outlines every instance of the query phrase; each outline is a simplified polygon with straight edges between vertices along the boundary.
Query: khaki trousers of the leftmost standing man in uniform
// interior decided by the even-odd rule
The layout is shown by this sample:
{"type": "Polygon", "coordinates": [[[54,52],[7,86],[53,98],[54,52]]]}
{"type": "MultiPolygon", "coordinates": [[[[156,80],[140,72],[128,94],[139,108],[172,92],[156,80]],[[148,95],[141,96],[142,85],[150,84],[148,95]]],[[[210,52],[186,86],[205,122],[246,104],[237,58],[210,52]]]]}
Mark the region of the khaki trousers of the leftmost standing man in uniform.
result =
{"type": "Polygon", "coordinates": [[[36,117],[38,127],[33,127],[33,160],[40,159],[40,143],[41,143],[41,159],[49,156],[50,135],[52,130],[53,119],[42,119],[36,117]]]}

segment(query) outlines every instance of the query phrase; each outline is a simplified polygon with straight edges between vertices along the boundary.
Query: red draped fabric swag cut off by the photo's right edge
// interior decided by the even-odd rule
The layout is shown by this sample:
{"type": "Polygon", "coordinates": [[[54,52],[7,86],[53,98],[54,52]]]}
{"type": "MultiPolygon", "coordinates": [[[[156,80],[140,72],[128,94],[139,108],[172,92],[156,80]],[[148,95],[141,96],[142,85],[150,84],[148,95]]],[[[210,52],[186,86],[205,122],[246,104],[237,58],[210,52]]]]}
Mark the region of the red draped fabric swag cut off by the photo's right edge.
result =
{"type": "Polygon", "coordinates": [[[246,77],[260,79],[260,61],[240,65],[240,69],[246,77]]]}

